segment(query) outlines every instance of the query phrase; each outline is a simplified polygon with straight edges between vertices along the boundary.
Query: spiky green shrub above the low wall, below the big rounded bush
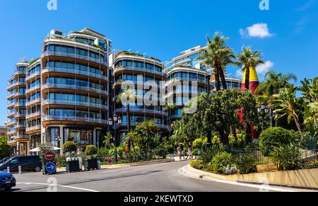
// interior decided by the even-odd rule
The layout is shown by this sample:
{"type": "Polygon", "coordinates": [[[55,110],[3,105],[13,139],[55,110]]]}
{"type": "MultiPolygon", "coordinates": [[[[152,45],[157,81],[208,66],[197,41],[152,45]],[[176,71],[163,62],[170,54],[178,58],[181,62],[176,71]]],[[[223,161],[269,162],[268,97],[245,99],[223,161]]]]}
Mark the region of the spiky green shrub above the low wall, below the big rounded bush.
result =
{"type": "Polygon", "coordinates": [[[295,144],[275,147],[271,159],[277,164],[280,171],[289,171],[300,168],[300,149],[295,144]]]}

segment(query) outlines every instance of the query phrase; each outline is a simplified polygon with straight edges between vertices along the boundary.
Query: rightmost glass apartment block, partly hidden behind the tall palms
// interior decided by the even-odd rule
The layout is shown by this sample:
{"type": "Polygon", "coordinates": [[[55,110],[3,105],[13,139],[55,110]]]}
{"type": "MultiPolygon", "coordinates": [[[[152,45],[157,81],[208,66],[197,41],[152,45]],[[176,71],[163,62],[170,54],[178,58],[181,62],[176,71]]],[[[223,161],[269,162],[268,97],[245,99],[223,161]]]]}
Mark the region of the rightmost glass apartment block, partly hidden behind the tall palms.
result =
{"type": "MultiPolygon", "coordinates": [[[[176,109],[172,112],[172,120],[178,120],[182,118],[182,108],[184,103],[187,103],[194,96],[199,95],[202,92],[209,92],[215,89],[213,79],[213,68],[206,67],[204,65],[204,59],[198,59],[201,52],[206,50],[206,47],[196,46],[180,52],[178,57],[172,59],[167,67],[168,81],[168,94],[167,98],[172,98],[173,103],[176,105],[176,109]],[[197,86],[183,85],[185,82],[196,82],[197,86]],[[172,87],[173,86],[173,87],[172,87]],[[197,93],[195,91],[197,90],[197,93]]],[[[240,90],[242,81],[230,76],[225,76],[228,88],[235,88],[240,90]]],[[[172,102],[172,101],[171,101],[172,102]]]]}

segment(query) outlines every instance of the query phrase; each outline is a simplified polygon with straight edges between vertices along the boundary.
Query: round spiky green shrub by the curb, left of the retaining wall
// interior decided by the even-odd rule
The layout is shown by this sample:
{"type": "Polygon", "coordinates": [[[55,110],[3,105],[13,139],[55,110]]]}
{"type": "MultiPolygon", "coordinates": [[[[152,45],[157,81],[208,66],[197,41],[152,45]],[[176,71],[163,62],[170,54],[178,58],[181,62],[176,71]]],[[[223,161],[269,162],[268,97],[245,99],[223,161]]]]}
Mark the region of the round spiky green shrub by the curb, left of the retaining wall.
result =
{"type": "Polygon", "coordinates": [[[240,174],[254,173],[257,171],[257,157],[249,153],[240,154],[235,159],[235,166],[240,174]]]}

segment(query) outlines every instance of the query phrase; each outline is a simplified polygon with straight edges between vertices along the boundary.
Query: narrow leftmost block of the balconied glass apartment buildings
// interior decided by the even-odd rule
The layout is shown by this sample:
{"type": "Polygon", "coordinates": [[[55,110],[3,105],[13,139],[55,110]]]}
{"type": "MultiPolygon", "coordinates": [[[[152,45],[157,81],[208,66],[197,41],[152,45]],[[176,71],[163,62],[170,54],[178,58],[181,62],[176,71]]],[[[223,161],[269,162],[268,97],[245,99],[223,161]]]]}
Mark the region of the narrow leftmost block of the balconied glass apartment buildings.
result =
{"type": "Polygon", "coordinates": [[[17,155],[28,154],[28,148],[30,146],[30,138],[25,133],[25,76],[27,75],[27,68],[29,64],[29,59],[20,59],[20,61],[16,64],[13,76],[11,76],[8,80],[7,86],[8,121],[6,122],[6,127],[8,129],[8,145],[12,147],[12,153],[17,155]]]}

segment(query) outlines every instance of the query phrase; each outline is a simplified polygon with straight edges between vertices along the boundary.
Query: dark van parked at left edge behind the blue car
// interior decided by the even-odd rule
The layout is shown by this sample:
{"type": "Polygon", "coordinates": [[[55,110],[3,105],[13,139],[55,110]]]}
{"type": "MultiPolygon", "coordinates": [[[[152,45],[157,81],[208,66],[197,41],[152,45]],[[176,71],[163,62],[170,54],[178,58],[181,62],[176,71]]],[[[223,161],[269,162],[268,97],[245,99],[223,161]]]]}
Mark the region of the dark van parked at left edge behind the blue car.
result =
{"type": "Polygon", "coordinates": [[[21,171],[41,171],[41,161],[39,156],[16,156],[8,159],[4,164],[0,165],[0,171],[6,171],[10,168],[10,172],[19,171],[19,166],[21,166],[21,171]]]}

